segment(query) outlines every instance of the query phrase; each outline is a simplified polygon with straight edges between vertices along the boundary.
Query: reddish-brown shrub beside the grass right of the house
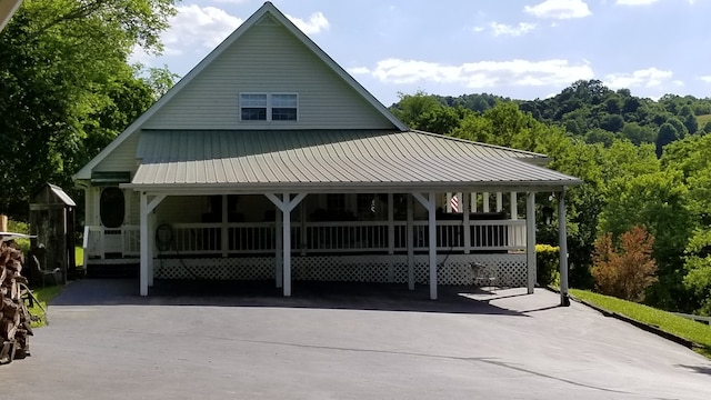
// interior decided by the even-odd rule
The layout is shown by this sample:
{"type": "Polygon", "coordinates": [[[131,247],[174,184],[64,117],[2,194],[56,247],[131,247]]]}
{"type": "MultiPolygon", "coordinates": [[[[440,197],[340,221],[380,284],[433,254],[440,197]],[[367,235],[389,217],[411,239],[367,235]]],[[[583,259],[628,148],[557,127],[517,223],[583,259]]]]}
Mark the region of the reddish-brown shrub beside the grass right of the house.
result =
{"type": "Polygon", "coordinates": [[[622,233],[619,249],[612,243],[612,233],[599,238],[591,271],[597,291],[630,301],[644,300],[644,290],[657,281],[653,244],[654,237],[642,227],[622,233]]]}

